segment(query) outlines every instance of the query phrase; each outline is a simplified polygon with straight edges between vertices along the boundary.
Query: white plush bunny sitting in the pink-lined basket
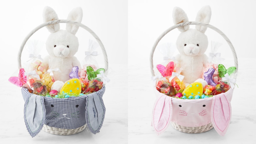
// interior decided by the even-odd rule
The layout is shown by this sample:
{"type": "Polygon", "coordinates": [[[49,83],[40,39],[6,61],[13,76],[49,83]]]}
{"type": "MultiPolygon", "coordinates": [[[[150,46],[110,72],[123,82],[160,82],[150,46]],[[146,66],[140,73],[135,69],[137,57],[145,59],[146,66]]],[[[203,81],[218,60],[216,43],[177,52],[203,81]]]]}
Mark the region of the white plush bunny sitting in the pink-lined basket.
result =
{"type": "MultiPolygon", "coordinates": [[[[209,24],[211,18],[210,6],[202,7],[196,17],[197,22],[209,24]]],[[[173,22],[179,24],[187,22],[187,14],[179,7],[173,10],[173,22]]],[[[208,47],[208,38],[204,34],[207,27],[196,25],[196,29],[189,29],[189,25],[178,27],[181,32],[177,38],[176,46],[180,54],[176,56],[180,65],[184,68],[181,74],[185,76],[186,83],[193,83],[195,81],[201,82],[203,86],[207,82],[202,77],[203,67],[208,60],[204,54],[208,47]]]]}

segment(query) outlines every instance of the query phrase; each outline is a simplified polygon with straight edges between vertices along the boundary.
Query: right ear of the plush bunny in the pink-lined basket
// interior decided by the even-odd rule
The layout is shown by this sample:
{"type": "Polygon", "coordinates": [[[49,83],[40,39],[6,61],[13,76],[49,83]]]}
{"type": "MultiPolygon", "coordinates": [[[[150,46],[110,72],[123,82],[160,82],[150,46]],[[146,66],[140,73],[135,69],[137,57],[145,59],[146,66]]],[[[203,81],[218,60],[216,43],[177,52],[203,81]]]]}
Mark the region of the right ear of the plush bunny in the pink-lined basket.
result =
{"type": "MultiPolygon", "coordinates": [[[[211,7],[209,5],[206,5],[198,11],[196,22],[209,24],[210,19],[211,19],[211,7]]],[[[196,25],[196,29],[202,33],[205,33],[207,27],[196,25]]]]}

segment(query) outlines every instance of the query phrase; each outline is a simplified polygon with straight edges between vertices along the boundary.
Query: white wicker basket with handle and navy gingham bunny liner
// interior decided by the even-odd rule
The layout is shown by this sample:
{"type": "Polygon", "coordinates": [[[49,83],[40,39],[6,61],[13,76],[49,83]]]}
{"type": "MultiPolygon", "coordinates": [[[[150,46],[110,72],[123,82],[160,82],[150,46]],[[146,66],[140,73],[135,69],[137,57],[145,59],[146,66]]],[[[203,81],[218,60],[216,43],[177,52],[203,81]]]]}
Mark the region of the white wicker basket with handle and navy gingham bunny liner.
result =
{"type": "MultiPolygon", "coordinates": [[[[52,20],[33,29],[20,46],[19,69],[21,69],[21,53],[29,37],[40,28],[56,23],[80,26],[94,36],[104,56],[105,71],[108,70],[107,53],[100,38],[89,27],[71,20],[52,20]]],[[[105,86],[97,92],[69,98],[44,97],[30,93],[25,87],[22,87],[21,92],[25,101],[24,120],[31,137],[35,137],[41,129],[56,135],[72,135],[81,132],[86,126],[91,133],[96,134],[102,127],[106,110],[102,99],[105,86]]]]}

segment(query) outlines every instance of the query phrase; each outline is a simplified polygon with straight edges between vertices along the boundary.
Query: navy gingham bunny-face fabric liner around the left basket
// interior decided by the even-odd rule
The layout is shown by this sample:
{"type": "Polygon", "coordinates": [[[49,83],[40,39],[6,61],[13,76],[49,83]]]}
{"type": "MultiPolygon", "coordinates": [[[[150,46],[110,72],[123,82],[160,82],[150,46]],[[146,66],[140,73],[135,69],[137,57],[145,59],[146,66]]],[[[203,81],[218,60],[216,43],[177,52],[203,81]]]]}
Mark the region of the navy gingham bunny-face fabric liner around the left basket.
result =
{"type": "Polygon", "coordinates": [[[87,124],[88,129],[91,131],[91,133],[96,134],[97,132],[100,132],[100,129],[102,127],[103,120],[105,117],[105,111],[106,111],[103,103],[103,99],[102,99],[103,94],[105,92],[105,87],[102,87],[101,90],[95,92],[100,98],[101,105],[103,108],[103,116],[102,116],[101,124],[96,130],[91,128],[89,116],[88,116],[88,97],[92,96],[92,94],[89,94],[89,95],[84,95],[80,97],[69,97],[69,98],[50,98],[50,97],[41,96],[41,103],[42,103],[43,112],[44,112],[43,120],[40,127],[35,132],[31,132],[26,120],[26,107],[27,107],[29,98],[33,94],[29,93],[27,88],[24,88],[24,87],[21,89],[21,92],[22,92],[23,99],[25,101],[24,120],[25,120],[27,130],[32,137],[35,137],[40,132],[44,124],[50,127],[55,127],[60,129],[77,129],[87,124]],[[53,105],[54,107],[51,107],[51,105],[53,105]],[[77,117],[76,115],[77,114],[76,105],[79,105],[78,107],[80,109],[80,112],[78,112],[79,117],[77,117]],[[57,107],[57,111],[56,110],[53,111],[53,108],[56,108],[56,107],[57,107]],[[59,113],[59,115],[56,113],[59,113]],[[55,119],[56,117],[60,116],[60,114],[63,114],[63,113],[69,113],[71,114],[71,117],[65,116],[62,118],[55,119]],[[68,118],[71,120],[69,121],[68,118]]]}

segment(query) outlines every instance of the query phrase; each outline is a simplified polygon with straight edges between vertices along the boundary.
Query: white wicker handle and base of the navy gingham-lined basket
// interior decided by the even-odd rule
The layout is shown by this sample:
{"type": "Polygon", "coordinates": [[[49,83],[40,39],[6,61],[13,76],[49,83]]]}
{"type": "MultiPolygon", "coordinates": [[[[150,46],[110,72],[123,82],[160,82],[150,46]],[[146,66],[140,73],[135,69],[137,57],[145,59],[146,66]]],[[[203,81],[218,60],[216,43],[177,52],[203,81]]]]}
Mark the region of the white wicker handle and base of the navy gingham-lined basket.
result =
{"type": "MultiPolygon", "coordinates": [[[[87,26],[85,26],[85,25],[83,25],[81,23],[78,23],[76,21],[71,21],[71,20],[53,20],[53,21],[48,21],[46,23],[43,23],[43,24],[37,26],[35,29],[33,29],[25,37],[25,39],[23,40],[23,42],[22,42],[22,44],[20,46],[20,49],[19,49],[19,52],[18,52],[18,68],[19,69],[21,68],[21,54],[22,54],[23,48],[24,48],[27,40],[30,38],[30,36],[32,36],[40,28],[48,26],[48,25],[51,25],[51,24],[55,24],[55,23],[74,24],[74,25],[80,26],[83,29],[87,30],[97,40],[97,42],[101,46],[101,50],[102,50],[102,53],[103,53],[103,56],[104,56],[105,72],[108,70],[108,57],[107,57],[106,50],[105,50],[105,48],[104,48],[100,38],[89,27],[87,27],[87,26]]],[[[56,134],[56,135],[72,135],[72,134],[76,134],[76,133],[81,132],[82,130],[84,130],[86,128],[86,126],[87,126],[87,124],[77,128],[77,129],[60,129],[60,128],[55,128],[55,127],[50,127],[50,126],[44,125],[43,126],[43,130],[48,132],[48,133],[56,134]]]]}

